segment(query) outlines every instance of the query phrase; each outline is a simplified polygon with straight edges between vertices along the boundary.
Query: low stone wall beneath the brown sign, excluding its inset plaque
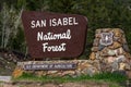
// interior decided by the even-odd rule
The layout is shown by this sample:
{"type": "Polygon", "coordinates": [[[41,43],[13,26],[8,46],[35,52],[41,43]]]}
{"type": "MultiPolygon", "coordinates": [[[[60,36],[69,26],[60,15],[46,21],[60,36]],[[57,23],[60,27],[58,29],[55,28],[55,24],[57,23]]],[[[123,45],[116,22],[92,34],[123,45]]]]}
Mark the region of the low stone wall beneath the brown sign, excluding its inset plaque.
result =
{"type": "Polygon", "coordinates": [[[19,62],[16,69],[13,72],[14,77],[21,76],[23,73],[32,73],[37,76],[80,76],[84,75],[94,75],[100,72],[100,65],[97,60],[70,60],[70,61],[28,61],[28,62],[19,62]],[[75,70],[56,70],[56,71],[26,71],[24,70],[24,65],[26,64],[51,64],[51,63],[75,63],[78,64],[75,70]]]}

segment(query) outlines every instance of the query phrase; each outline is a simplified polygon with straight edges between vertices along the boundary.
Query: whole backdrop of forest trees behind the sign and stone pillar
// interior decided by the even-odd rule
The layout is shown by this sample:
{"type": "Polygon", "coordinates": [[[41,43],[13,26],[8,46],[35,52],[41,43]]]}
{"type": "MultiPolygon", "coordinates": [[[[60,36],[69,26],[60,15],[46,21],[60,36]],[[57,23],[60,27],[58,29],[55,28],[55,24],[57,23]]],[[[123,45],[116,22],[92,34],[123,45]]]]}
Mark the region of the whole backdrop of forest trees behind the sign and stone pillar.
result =
{"type": "Polygon", "coordinates": [[[84,15],[88,30],[84,53],[87,59],[95,29],[121,28],[131,49],[131,0],[0,0],[0,48],[26,53],[22,11],[46,11],[84,15]]]}

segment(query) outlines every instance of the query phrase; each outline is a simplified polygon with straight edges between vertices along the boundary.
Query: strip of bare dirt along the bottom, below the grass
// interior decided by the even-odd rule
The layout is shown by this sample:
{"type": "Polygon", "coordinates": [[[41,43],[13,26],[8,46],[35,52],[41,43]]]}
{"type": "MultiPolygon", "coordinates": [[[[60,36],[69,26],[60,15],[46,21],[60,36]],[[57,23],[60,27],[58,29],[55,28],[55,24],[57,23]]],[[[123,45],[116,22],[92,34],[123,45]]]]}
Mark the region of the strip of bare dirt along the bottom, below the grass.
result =
{"type": "Polygon", "coordinates": [[[43,84],[43,83],[0,83],[0,87],[130,87],[120,86],[111,83],[63,83],[63,84],[43,84]]]}

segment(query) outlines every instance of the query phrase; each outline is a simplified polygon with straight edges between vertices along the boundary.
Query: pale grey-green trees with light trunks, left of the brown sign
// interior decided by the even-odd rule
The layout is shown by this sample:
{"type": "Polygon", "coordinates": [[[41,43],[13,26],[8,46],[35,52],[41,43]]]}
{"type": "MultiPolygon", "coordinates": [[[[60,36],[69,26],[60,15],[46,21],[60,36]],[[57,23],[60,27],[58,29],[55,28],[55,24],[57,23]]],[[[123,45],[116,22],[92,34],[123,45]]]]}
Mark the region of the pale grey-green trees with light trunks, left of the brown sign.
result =
{"type": "Polygon", "coordinates": [[[23,9],[21,9],[20,13],[16,13],[16,10],[13,8],[9,8],[5,3],[3,4],[3,8],[1,10],[0,16],[0,23],[2,25],[1,29],[1,48],[8,48],[9,39],[11,37],[15,37],[17,33],[17,27],[21,23],[21,14],[23,9]]]}

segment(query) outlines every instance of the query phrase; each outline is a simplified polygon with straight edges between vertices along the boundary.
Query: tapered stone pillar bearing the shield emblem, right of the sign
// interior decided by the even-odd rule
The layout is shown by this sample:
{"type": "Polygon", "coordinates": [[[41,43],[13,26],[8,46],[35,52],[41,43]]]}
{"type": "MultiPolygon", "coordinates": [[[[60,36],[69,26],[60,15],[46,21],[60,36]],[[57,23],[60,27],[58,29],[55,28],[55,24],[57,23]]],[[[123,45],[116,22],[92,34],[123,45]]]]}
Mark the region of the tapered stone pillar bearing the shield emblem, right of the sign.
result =
{"type": "Polygon", "coordinates": [[[97,29],[91,60],[99,60],[102,71],[131,70],[131,54],[123,30],[119,28],[97,29]]]}

